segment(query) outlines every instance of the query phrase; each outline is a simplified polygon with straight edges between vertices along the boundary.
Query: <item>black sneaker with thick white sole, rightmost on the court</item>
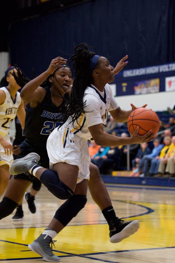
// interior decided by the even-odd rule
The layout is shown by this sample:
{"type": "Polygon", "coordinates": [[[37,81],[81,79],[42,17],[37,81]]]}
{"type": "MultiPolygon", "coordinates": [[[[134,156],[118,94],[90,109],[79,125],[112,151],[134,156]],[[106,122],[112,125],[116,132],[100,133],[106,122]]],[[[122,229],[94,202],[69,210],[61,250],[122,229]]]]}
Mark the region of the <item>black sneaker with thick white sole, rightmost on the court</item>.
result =
{"type": "Polygon", "coordinates": [[[111,220],[110,228],[110,242],[118,243],[124,238],[133,235],[139,229],[139,221],[134,220],[132,222],[124,222],[124,220],[121,220],[118,217],[116,217],[115,220],[111,220]]]}

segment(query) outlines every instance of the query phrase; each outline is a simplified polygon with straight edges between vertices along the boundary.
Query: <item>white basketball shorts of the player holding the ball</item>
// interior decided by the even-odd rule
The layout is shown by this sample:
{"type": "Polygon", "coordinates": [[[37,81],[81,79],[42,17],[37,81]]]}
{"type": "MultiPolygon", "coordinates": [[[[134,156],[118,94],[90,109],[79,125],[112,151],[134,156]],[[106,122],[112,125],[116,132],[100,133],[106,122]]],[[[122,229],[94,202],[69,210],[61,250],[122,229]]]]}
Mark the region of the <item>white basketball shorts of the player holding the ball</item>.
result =
{"type": "Polygon", "coordinates": [[[47,152],[50,169],[59,162],[77,165],[79,168],[78,181],[89,180],[90,155],[88,143],[70,131],[66,126],[55,128],[47,140],[47,152]]]}

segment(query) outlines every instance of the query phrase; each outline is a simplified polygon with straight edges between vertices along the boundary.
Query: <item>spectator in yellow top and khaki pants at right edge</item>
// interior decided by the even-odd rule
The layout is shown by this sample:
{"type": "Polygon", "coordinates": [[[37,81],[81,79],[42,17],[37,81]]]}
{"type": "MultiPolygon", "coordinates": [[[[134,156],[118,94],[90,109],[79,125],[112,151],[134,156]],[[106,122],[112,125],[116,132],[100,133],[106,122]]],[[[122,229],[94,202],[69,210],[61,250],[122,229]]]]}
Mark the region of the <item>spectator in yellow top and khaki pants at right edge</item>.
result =
{"type": "Polygon", "coordinates": [[[160,165],[158,172],[160,174],[167,173],[165,177],[174,177],[175,176],[175,165],[174,165],[174,157],[175,157],[175,136],[172,137],[172,143],[169,146],[167,154],[165,157],[160,160],[160,165]],[[165,168],[166,167],[166,168],[165,168]]]}

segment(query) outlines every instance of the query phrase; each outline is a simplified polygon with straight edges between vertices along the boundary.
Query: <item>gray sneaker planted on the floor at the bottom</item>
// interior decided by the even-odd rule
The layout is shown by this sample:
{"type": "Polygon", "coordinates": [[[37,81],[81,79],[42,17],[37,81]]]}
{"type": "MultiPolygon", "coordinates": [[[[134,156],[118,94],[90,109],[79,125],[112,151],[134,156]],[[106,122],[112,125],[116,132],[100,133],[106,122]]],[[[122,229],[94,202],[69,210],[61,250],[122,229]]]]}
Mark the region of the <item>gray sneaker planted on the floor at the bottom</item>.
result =
{"type": "Polygon", "coordinates": [[[55,241],[56,240],[52,240],[50,236],[46,234],[41,234],[38,238],[34,240],[34,242],[29,244],[28,247],[30,248],[30,250],[39,254],[41,257],[43,257],[44,260],[48,262],[59,262],[60,257],[54,255],[52,252],[52,245],[54,245],[53,243],[55,241]]]}

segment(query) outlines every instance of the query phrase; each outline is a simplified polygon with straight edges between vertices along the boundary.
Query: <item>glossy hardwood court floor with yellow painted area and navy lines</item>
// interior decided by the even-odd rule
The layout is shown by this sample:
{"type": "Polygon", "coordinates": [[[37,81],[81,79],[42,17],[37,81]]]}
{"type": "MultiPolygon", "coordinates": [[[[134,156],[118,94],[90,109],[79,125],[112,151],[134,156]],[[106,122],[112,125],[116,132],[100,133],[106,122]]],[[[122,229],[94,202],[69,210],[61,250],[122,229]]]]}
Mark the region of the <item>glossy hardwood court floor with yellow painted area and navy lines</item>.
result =
{"type": "MultiPolygon", "coordinates": [[[[139,231],[120,243],[110,243],[108,225],[88,192],[85,208],[55,238],[54,253],[60,262],[175,262],[175,188],[114,184],[107,188],[116,215],[138,219],[139,231]]],[[[35,203],[36,214],[31,214],[24,201],[22,222],[12,222],[11,215],[0,221],[0,261],[43,262],[27,245],[63,202],[43,186],[35,203]]]]}

